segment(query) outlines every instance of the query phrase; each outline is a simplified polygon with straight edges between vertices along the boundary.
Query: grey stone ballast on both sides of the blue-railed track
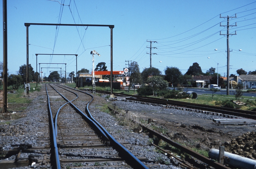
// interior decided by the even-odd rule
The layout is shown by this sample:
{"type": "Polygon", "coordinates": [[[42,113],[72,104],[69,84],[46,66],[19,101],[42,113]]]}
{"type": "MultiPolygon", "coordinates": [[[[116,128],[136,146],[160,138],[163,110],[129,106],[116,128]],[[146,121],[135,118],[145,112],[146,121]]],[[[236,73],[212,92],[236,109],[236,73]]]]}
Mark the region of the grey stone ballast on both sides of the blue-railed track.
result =
{"type": "MultiPolygon", "coordinates": [[[[13,149],[11,144],[19,145],[21,143],[25,143],[32,144],[33,146],[44,146],[47,144],[37,142],[37,140],[40,140],[41,137],[49,137],[47,136],[48,133],[44,133],[41,130],[41,128],[45,128],[49,131],[47,99],[45,95],[44,85],[42,86],[41,92],[33,92],[33,94],[30,95],[30,97],[33,97],[33,100],[32,103],[24,111],[25,117],[18,120],[12,120],[10,121],[10,124],[0,125],[0,147],[2,146],[3,151],[13,149]]],[[[190,142],[191,145],[194,146],[199,144],[199,148],[206,150],[210,148],[218,148],[219,145],[224,144],[224,142],[226,141],[229,141],[228,144],[230,144],[231,139],[236,139],[243,133],[252,132],[256,129],[255,125],[216,126],[211,124],[212,119],[223,118],[220,116],[207,115],[185,110],[163,108],[159,106],[143,105],[133,102],[110,101],[107,100],[104,95],[102,95],[101,97],[98,95],[94,95],[94,99],[100,100],[98,102],[101,103],[115,103],[118,109],[123,111],[128,110],[129,113],[133,113],[138,118],[144,120],[148,120],[148,118],[156,119],[156,121],[153,122],[154,125],[164,126],[167,130],[169,130],[165,134],[166,136],[169,136],[171,139],[176,139],[176,141],[181,141],[185,138],[185,140],[187,139],[187,143],[190,142]],[[159,115],[161,117],[159,117],[159,115]],[[195,125],[202,128],[198,129],[195,127],[195,125]],[[207,130],[211,130],[212,132],[207,132],[207,130]],[[190,135],[193,135],[193,137],[190,135]],[[194,138],[196,137],[199,137],[200,139],[195,141],[194,138]],[[208,141],[203,143],[201,138],[207,138],[208,141]]],[[[93,117],[100,124],[102,124],[102,126],[114,137],[123,136],[125,141],[129,142],[128,145],[124,146],[130,152],[136,154],[136,156],[138,157],[146,157],[148,160],[161,162],[161,164],[159,163],[159,165],[157,166],[152,166],[153,168],[179,168],[175,166],[176,161],[174,159],[170,159],[164,154],[159,153],[159,151],[156,151],[156,148],[154,146],[149,146],[152,139],[150,139],[146,133],[136,133],[127,126],[119,125],[118,121],[112,115],[102,112],[99,108],[100,106],[97,103],[92,103],[90,105],[89,109],[93,117]],[[162,162],[165,162],[165,164],[162,164],[162,162]]],[[[3,120],[2,123],[3,122],[6,121],[3,120]]],[[[232,148],[232,150],[233,149],[234,148],[232,148]]],[[[29,154],[23,154],[23,156],[21,157],[27,156],[29,156],[29,154]]],[[[15,160],[15,157],[16,156],[10,156],[8,157],[8,159],[2,160],[15,160]]],[[[42,157],[39,156],[38,158],[40,159],[42,157]]],[[[20,168],[31,167],[34,166],[20,168]]],[[[41,167],[51,168],[50,164],[46,164],[41,167]]]]}

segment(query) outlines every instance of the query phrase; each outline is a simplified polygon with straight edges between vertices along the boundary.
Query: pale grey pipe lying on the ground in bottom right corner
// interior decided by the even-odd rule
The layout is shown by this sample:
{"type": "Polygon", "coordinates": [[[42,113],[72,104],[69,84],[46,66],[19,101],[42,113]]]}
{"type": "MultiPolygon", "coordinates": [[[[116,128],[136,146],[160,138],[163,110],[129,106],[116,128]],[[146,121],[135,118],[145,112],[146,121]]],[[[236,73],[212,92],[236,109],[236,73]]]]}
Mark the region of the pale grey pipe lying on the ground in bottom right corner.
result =
{"type": "MultiPolygon", "coordinates": [[[[209,158],[217,160],[219,158],[219,150],[213,148],[209,151],[208,155],[209,158]]],[[[224,152],[224,156],[229,158],[229,160],[224,159],[225,164],[232,165],[236,168],[256,169],[256,160],[238,156],[226,151],[224,152]]]]}

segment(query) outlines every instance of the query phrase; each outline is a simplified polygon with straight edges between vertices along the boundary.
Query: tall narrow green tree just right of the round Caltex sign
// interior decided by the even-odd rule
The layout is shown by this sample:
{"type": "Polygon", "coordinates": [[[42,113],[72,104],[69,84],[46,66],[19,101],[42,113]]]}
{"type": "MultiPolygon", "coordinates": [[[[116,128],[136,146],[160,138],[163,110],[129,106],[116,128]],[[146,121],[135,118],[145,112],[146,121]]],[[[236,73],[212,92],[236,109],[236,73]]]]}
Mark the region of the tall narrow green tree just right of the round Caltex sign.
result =
{"type": "Polygon", "coordinates": [[[130,78],[129,78],[129,82],[130,82],[130,86],[132,84],[141,84],[142,80],[141,80],[141,74],[139,71],[139,65],[137,62],[131,62],[131,64],[129,65],[129,71],[130,71],[130,78]]]}

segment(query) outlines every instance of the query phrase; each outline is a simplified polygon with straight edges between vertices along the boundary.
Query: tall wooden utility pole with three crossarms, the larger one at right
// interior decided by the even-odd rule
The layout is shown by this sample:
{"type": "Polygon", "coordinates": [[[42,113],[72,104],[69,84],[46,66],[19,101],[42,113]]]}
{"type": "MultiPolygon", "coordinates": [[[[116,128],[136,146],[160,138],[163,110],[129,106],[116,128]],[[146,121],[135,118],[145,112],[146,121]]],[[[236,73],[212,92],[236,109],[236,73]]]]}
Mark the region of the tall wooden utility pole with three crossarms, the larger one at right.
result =
{"type": "Polygon", "coordinates": [[[237,18],[237,14],[234,16],[234,17],[230,17],[229,15],[227,15],[227,17],[222,17],[221,14],[220,14],[220,18],[227,18],[227,25],[221,25],[220,23],[220,26],[226,26],[227,27],[227,34],[221,34],[221,31],[220,31],[220,35],[227,35],[227,95],[229,95],[229,35],[236,35],[237,32],[235,31],[235,34],[230,34],[229,33],[229,27],[231,26],[237,26],[237,23],[236,25],[229,25],[229,18],[237,18]]]}

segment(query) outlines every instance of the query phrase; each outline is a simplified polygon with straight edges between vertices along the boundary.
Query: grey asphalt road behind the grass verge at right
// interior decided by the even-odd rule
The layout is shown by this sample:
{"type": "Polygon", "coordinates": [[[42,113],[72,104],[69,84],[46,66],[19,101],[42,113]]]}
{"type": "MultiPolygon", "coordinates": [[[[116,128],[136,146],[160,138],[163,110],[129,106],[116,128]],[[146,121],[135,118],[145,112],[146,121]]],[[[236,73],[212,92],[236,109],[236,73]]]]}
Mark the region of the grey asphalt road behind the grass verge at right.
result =
{"type": "MultiPolygon", "coordinates": [[[[173,88],[169,88],[170,90],[173,90],[173,88]]],[[[184,88],[184,92],[187,91],[187,88],[184,88]]],[[[193,92],[196,92],[198,95],[212,95],[212,91],[210,91],[209,89],[207,88],[198,88],[198,89],[195,89],[195,88],[188,88],[188,91],[193,91],[193,92]]],[[[229,90],[229,95],[235,95],[236,93],[236,90],[229,90]]],[[[221,89],[220,91],[216,92],[215,94],[217,95],[227,95],[227,90],[226,89],[221,89]]],[[[249,92],[244,92],[243,93],[244,96],[249,96],[249,97],[254,97],[256,99],[256,93],[249,93],[249,92]]]]}

